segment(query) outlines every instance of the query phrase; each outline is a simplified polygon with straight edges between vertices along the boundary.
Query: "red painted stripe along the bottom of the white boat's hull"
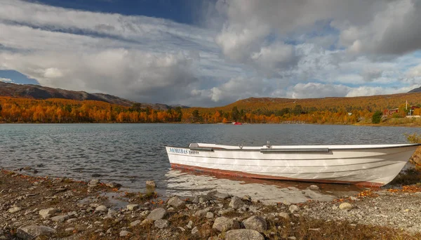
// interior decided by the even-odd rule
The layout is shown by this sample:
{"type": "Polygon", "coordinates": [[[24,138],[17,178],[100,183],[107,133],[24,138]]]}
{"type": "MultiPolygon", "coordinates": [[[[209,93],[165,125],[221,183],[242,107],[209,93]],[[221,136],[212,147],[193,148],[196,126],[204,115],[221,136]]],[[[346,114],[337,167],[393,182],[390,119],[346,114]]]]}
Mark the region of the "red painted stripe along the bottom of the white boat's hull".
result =
{"type": "Polygon", "coordinates": [[[340,184],[351,184],[351,185],[359,185],[363,187],[382,187],[384,184],[379,182],[352,182],[352,181],[340,181],[340,180],[306,180],[306,179],[298,179],[298,178],[285,178],[285,177],[276,177],[271,175],[260,175],[260,174],[253,174],[253,173],[243,173],[240,171],[228,171],[228,170],[220,170],[215,168],[202,168],[199,166],[188,166],[183,164],[171,164],[172,168],[181,168],[186,169],[189,171],[196,171],[201,173],[212,173],[215,175],[228,175],[231,177],[236,178],[260,178],[260,179],[271,179],[271,180],[288,180],[288,181],[298,181],[298,182],[321,182],[321,183],[340,183],[340,184]]]}

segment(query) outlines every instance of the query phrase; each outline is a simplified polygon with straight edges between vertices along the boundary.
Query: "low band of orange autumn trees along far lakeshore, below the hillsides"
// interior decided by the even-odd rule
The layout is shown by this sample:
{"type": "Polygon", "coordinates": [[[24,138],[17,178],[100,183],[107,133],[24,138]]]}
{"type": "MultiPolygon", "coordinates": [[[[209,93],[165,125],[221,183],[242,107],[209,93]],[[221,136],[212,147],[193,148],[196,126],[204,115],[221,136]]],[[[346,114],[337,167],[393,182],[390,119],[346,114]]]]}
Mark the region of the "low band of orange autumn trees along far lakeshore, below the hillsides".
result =
{"type": "MultiPolygon", "coordinates": [[[[402,106],[399,106],[401,109],[402,106]]],[[[402,111],[403,112],[403,111],[402,111]]],[[[363,106],[310,106],[255,109],[239,107],[190,108],[159,110],[140,103],[131,107],[93,100],[0,97],[0,121],[8,123],[229,123],[239,121],[250,124],[356,124],[372,121],[373,108],[363,106]]],[[[378,114],[378,113],[377,113],[378,114]]],[[[377,121],[378,116],[375,116],[377,121]]]]}

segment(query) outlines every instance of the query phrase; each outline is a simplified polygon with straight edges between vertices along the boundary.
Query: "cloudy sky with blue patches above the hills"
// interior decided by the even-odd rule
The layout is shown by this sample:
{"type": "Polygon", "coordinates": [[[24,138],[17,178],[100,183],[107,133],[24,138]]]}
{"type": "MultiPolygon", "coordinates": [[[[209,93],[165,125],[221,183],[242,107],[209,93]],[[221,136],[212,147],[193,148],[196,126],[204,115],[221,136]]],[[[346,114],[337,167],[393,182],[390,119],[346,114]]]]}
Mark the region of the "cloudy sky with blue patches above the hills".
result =
{"type": "Polygon", "coordinates": [[[0,0],[0,81],[215,107],[421,86],[419,0],[0,0]]]}

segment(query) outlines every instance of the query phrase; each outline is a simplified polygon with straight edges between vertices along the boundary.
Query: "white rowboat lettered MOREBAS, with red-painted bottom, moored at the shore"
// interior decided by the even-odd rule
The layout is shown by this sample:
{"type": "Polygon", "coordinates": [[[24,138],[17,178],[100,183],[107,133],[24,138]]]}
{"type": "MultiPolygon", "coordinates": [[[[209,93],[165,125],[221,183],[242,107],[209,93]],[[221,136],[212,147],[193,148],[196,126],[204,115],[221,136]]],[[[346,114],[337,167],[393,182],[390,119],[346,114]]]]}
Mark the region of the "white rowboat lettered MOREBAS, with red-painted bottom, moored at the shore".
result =
{"type": "Polygon", "coordinates": [[[245,178],[381,187],[420,144],[243,147],[191,143],[166,146],[171,167],[245,178]]]}

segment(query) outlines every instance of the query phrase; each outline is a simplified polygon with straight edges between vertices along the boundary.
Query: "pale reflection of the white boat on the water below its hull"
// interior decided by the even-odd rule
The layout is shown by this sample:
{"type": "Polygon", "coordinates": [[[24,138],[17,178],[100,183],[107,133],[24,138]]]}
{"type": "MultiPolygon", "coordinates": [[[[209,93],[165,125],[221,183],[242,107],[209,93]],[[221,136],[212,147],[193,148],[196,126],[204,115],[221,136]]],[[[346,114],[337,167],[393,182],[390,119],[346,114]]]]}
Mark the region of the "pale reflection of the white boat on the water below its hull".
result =
{"type": "Polygon", "coordinates": [[[309,189],[314,183],[253,178],[233,178],[225,175],[208,175],[194,171],[171,169],[166,173],[167,196],[194,196],[218,189],[236,196],[251,196],[265,204],[289,201],[301,203],[307,200],[331,201],[337,196],[352,196],[361,191],[354,185],[316,184],[320,190],[309,189]]]}

